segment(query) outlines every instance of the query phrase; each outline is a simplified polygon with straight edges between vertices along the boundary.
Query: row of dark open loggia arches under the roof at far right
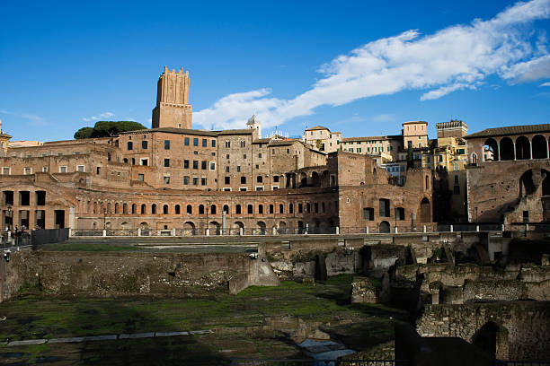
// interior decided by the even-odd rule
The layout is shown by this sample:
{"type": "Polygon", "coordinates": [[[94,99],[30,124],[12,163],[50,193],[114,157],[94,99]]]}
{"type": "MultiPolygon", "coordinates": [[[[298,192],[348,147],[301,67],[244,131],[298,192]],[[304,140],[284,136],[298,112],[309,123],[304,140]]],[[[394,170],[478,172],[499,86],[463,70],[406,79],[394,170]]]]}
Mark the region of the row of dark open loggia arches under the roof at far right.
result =
{"type": "Polygon", "coordinates": [[[488,138],[483,143],[483,161],[515,161],[529,159],[548,159],[550,139],[544,135],[535,135],[531,140],[519,136],[515,140],[502,137],[499,141],[488,138]]]}

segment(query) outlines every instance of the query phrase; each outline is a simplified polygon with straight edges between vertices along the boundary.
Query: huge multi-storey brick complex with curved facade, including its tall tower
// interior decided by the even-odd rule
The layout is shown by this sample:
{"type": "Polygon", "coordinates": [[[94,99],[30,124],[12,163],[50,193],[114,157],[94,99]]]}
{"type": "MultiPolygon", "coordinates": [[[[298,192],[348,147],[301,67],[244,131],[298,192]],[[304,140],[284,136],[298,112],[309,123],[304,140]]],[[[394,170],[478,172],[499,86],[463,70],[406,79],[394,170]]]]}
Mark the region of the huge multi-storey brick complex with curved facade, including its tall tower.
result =
{"type": "Polygon", "coordinates": [[[256,117],[191,129],[189,74],[165,68],[157,90],[151,129],[20,147],[3,132],[2,224],[263,234],[433,221],[430,170],[409,171],[402,187],[369,156],[262,138],[256,117]]]}

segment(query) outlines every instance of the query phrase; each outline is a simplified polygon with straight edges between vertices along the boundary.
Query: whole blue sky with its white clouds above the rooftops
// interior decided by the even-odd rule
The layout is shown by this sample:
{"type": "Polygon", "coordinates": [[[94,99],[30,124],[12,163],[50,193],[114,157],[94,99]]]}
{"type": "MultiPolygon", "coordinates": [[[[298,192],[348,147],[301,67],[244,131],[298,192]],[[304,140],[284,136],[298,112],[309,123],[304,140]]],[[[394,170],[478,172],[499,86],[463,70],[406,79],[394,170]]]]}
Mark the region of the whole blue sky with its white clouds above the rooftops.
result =
{"type": "Polygon", "coordinates": [[[150,126],[164,65],[190,71],[194,128],[254,112],[289,135],[550,123],[550,0],[445,3],[3,2],[2,128],[51,141],[101,119],[150,126]]]}

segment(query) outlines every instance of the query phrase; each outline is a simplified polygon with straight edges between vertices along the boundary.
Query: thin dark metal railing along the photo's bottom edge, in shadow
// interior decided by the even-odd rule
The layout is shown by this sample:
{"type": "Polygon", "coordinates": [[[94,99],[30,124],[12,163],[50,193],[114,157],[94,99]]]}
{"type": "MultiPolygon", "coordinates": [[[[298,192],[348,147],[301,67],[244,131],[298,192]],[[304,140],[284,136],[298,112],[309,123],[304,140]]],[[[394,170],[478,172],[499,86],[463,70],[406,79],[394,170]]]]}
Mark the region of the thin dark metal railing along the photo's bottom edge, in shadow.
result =
{"type": "Polygon", "coordinates": [[[406,366],[406,361],[395,360],[282,360],[232,358],[231,366],[406,366]]]}

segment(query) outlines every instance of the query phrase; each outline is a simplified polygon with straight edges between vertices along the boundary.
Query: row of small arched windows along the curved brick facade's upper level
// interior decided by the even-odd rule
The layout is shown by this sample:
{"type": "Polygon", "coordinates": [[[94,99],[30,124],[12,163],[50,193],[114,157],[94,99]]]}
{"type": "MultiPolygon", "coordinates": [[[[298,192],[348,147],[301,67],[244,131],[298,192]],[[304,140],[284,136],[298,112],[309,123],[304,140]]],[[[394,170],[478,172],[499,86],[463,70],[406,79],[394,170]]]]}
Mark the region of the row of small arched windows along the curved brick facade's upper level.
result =
{"type": "Polygon", "coordinates": [[[225,212],[231,215],[244,214],[293,214],[293,213],[327,213],[337,209],[337,202],[321,201],[290,204],[247,204],[247,205],[222,205],[222,211],[218,212],[217,204],[212,205],[168,205],[168,204],[128,204],[115,202],[86,201],[84,211],[95,214],[211,214],[216,215],[225,212]]]}

